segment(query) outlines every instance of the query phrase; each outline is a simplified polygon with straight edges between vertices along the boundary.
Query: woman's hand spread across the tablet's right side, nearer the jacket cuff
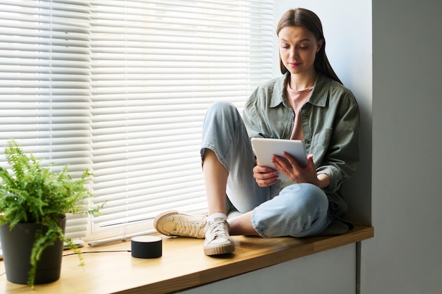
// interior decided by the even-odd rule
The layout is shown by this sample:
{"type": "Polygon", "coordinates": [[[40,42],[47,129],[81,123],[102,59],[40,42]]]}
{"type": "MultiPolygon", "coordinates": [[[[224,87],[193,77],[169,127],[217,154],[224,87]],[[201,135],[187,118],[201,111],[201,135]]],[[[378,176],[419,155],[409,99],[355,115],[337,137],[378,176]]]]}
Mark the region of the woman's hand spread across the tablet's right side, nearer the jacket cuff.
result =
{"type": "Polygon", "coordinates": [[[284,173],[294,183],[311,183],[319,188],[325,188],[330,185],[330,178],[327,175],[321,174],[318,176],[316,174],[313,154],[309,154],[307,157],[307,166],[305,167],[299,166],[292,155],[287,152],[284,152],[283,155],[284,157],[273,155],[272,162],[275,165],[275,169],[284,173]]]}

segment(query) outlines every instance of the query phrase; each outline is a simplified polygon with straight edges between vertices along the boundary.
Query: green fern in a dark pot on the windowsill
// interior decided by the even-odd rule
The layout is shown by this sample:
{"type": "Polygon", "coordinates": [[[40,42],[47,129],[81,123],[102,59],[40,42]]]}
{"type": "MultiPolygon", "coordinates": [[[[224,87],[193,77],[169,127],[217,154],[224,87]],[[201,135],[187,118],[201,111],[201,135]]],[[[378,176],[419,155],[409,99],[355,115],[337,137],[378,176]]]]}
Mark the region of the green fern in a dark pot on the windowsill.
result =
{"type": "Polygon", "coordinates": [[[82,209],[92,196],[85,187],[91,175],[86,170],[73,180],[68,165],[54,172],[14,140],[5,155],[10,169],[0,167],[0,240],[6,278],[32,287],[56,281],[64,243],[76,248],[64,235],[66,214],[97,212],[82,209]]]}

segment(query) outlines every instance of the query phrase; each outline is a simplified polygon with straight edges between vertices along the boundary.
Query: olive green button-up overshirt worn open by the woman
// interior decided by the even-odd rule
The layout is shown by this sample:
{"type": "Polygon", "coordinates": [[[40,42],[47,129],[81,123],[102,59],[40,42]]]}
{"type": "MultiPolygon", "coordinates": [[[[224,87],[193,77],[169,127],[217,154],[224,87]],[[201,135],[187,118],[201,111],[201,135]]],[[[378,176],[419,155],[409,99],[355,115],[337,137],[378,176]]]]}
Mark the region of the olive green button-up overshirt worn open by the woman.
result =
{"type": "MultiPolygon", "coordinates": [[[[289,139],[294,112],[287,100],[289,73],[256,88],[246,102],[243,118],[249,137],[289,139]]],[[[325,173],[330,185],[324,189],[330,215],[347,210],[340,195],[342,182],[359,163],[359,108],[350,90],[318,73],[309,100],[301,108],[301,124],[307,154],[313,154],[317,173],[325,173]]],[[[292,184],[284,183],[281,188],[292,184]]]]}

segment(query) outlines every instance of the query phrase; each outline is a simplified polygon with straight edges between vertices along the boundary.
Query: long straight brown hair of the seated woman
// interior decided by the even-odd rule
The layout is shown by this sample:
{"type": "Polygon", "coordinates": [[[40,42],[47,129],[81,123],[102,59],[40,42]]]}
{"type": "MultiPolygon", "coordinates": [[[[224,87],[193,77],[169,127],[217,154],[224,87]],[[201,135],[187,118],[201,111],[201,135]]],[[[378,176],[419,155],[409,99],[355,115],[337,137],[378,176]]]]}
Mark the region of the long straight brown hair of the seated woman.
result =
{"type": "MultiPolygon", "coordinates": [[[[338,75],[336,75],[333,68],[330,66],[328,62],[327,55],[325,55],[325,38],[322,30],[321,20],[316,16],[313,11],[309,11],[305,8],[296,8],[290,9],[286,13],[284,13],[280,19],[280,22],[277,24],[276,35],[280,34],[280,31],[284,27],[289,26],[301,26],[305,27],[307,30],[313,32],[313,35],[316,37],[316,41],[323,40],[323,44],[321,49],[319,49],[318,54],[316,54],[315,59],[315,69],[325,75],[328,75],[333,80],[336,80],[342,84],[338,75]]],[[[280,56],[280,68],[281,73],[287,73],[287,68],[284,66],[280,56]]]]}

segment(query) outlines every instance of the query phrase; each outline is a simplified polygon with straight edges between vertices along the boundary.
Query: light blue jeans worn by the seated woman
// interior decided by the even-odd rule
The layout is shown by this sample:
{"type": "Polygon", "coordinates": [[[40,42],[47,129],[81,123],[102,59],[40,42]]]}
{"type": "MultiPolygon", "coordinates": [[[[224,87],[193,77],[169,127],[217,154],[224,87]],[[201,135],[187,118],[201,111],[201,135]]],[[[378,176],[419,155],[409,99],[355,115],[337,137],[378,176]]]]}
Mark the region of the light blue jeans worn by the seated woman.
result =
{"type": "Polygon", "coordinates": [[[280,190],[280,181],[259,187],[253,178],[255,155],[246,126],[236,107],[215,102],[203,123],[201,158],[211,149],[225,167],[227,213],[252,211],[253,228],[262,237],[306,237],[321,233],[332,219],[328,216],[325,192],[309,183],[293,184],[280,190]]]}

